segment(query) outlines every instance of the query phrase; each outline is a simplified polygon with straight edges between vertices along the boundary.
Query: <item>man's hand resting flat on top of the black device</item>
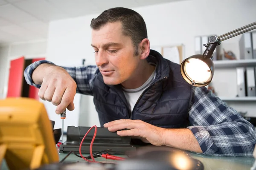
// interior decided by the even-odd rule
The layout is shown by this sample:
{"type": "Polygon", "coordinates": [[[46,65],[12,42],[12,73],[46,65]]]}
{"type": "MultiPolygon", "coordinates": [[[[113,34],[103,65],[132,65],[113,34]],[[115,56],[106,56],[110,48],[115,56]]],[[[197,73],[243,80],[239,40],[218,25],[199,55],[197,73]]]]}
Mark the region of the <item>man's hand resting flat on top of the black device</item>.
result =
{"type": "Polygon", "coordinates": [[[156,146],[164,145],[164,130],[141,120],[120,119],[104,124],[109,131],[115,132],[119,136],[134,136],[145,143],[151,143],[156,146]],[[128,130],[123,130],[128,129],[128,130]]]}

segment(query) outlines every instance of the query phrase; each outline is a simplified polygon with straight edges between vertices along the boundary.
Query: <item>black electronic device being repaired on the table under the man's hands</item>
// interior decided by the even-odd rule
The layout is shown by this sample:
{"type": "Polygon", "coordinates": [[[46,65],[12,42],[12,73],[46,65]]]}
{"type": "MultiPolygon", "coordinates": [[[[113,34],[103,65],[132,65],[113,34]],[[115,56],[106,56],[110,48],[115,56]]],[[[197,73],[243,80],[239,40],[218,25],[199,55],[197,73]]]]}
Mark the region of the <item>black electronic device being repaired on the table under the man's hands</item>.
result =
{"type": "MultiPolygon", "coordinates": [[[[68,153],[74,151],[79,153],[81,141],[89,129],[90,127],[68,126],[67,141],[60,145],[59,152],[68,153]]],[[[93,135],[94,130],[90,130],[82,143],[82,153],[90,153],[90,143],[92,142],[93,135]]],[[[130,136],[121,137],[118,136],[116,132],[110,132],[108,128],[97,127],[97,134],[93,142],[92,150],[93,152],[99,152],[108,149],[111,149],[112,152],[122,153],[136,151],[136,147],[132,144],[130,136]]]]}

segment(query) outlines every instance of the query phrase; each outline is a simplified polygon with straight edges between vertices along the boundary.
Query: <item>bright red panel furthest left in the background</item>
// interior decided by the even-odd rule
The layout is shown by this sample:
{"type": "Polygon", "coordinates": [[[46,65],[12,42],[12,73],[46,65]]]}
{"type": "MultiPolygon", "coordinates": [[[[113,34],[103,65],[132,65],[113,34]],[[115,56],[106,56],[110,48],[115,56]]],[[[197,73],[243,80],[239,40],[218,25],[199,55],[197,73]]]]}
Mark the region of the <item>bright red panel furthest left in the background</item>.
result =
{"type": "Polygon", "coordinates": [[[23,85],[24,57],[11,60],[9,69],[8,92],[6,97],[20,97],[23,85]]]}

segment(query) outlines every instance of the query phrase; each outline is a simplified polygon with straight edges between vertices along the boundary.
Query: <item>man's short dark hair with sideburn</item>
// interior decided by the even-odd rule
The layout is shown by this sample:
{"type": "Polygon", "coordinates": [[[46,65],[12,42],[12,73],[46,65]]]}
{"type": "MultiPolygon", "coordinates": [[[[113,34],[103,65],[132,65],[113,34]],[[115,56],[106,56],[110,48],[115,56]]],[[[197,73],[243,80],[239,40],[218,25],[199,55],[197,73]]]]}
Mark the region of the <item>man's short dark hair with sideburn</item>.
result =
{"type": "Polygon", "coordinates": [[[97,30],[107,23],[116,21],[121,21],[123,34],[131,37],[135,48],[134,55],[137,56],[139,54],[138,44],[144,38],[148,38],[148,33],[143,17],[136,11],[122,7],[110,8],[93,18],[90,27],[97,30]]]}

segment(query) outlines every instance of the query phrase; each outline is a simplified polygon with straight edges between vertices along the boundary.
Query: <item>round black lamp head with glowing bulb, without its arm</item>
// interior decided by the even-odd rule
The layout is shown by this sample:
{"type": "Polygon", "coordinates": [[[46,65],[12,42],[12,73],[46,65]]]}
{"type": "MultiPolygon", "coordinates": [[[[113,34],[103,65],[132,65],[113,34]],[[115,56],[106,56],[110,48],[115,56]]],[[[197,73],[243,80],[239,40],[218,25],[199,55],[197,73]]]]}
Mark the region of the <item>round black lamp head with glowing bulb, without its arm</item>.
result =
{"type": "Polygon", "coordinates": [[[182,77],[190,85],[204,87],[209,85],[214,75],[212,58],[205,58],[201,54],[193,55],[180,64],[182,77]]]}

